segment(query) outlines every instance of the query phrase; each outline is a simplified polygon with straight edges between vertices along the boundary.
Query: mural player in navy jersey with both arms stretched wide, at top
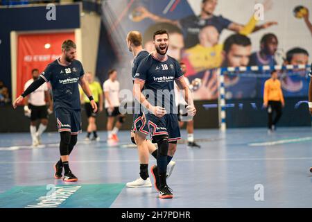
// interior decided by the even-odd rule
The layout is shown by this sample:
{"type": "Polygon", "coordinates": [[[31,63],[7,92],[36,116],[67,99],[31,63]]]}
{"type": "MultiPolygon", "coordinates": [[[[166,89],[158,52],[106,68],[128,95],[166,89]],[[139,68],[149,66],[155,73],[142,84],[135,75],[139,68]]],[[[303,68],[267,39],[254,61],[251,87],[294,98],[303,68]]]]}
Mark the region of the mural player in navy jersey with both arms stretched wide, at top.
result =
{"type": "MultiPolygon", "coordinates": [[[[272,5],[271,2],[272,1],[270,0],[264,1],[263,6],[265,11],[270,9],[270,6],[272,5]]],[[[256,26],[257,20],[254,19],[254,15],[252,15],[248,24],[237,24],[229,19],[225,19],[222,15],[214,15],[214,10],[216,9],[217,4],[218,0],[202,0],[200,15],[190,15],[189,17],[184,17],[180,20],[171,20],[164,17],[159,17],[158,15],[154,15],[152,12],[148,11],[143,6],[140,6],[135,10],[137,11],[137,14],[140,14],[140,21],[141,19],[149,18],[154,22],[166,22],[180,27],[184,33],[186,48],[196,46],[196,44],[199,43],[198,35],[200,30],[206,26],[215,26],[218,30],[218,33],[221,33],[223,29],[229,29],[236,33],[249,35],[252,32],[259,31],[277,24],[276,22],[266,22],[261,26],[256,26]]]]}

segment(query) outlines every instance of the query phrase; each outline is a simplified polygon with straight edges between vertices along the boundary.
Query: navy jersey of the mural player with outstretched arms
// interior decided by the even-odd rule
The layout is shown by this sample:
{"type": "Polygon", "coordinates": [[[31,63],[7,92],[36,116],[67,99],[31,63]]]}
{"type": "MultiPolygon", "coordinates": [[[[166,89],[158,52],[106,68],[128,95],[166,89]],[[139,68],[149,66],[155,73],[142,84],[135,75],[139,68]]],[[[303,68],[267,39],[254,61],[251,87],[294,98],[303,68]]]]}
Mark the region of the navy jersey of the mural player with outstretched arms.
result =
{"type": "Polygon", "coordinates": [[[225,19],[221,15],[213,15],[209,19],[202,19],[200,16],[190,15],[189,17],[181,19],[179,22],[185,37],[185,48],[191,48],[199,43],[198,34],[202,28],[214,26],[218,30],[218,33],[221,33],[224,28],[228,28],[229,24],[232,23],[232,21],[225,19]]]}

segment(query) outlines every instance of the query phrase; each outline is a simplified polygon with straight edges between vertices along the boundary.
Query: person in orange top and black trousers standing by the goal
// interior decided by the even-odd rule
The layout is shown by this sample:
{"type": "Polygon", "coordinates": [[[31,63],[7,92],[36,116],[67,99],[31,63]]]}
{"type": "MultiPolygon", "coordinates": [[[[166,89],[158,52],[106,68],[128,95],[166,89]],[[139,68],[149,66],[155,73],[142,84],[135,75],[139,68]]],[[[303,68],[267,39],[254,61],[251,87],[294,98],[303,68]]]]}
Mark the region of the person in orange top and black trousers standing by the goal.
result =
{"type": "Polygon", "coordinates": [[[281,118],[281,109],[284,107],[284,96],[281,92],[281,82],[277,79],[277,71],[271,71],[271,78],[264,83],[263,106],[268,110],[268,133],[276,129],[276,124],[281,118]],[[273,112],[276,112],[273,120],[273,112]]]}

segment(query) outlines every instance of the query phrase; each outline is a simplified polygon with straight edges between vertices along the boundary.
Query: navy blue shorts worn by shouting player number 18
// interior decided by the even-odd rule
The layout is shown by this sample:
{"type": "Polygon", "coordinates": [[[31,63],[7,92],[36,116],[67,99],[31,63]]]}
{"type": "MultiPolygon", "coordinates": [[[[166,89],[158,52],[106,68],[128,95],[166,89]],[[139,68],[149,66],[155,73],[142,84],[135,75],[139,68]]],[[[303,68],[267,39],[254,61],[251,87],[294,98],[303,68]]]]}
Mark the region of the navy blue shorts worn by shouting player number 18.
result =
{"type": "Polygon", "coordinates": [[[179,121],[177,114],[165,114],[164,117],[158,118],[154,114],[145,114],[146,123],[150,137],[156,135],[168,135],[168,141],[173,142],[181,139],[179,121]]]}

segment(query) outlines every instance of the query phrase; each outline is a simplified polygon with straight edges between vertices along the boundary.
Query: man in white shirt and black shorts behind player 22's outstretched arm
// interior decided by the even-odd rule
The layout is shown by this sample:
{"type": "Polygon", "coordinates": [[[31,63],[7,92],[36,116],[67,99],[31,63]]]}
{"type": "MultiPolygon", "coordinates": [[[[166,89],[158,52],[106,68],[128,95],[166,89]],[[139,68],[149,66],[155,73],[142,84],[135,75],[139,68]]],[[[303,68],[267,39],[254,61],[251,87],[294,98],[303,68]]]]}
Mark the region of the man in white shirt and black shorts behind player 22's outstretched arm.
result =
{"type": "MultiPolygon", "coordinates": [[[[40,73],[38,69],[31,71],[33,78],[25,83],[24,90],[27,89],[34,80],[39,78],[40,73]]],[[[41,144],[41,135],[46,130],[48,125],[48,112],[52,113],[53,103],[49,94],[49,89],[46,83],[37,88],[34,92],[25,97],[24,114],[31,119],[31,138],[33,140],[33,146],[41,144]],[[46,110],[46,101],[49,103],[49,109],[46,110]],[[40,119],[40,125],[37,130],[36,121],[40,119]]]]}

